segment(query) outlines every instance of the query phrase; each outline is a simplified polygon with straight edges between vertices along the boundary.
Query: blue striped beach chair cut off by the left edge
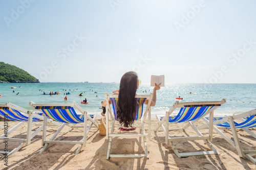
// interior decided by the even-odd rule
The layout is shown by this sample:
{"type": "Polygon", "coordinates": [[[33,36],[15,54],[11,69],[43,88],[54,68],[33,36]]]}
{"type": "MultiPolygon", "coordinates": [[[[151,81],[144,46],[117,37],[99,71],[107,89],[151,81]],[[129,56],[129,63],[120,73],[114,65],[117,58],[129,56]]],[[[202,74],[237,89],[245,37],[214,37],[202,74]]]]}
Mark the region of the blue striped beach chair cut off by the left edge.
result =
{"type": "MultiPolygon", "coordinates": [[[[0,140],[4,141],[17,141],[20,142],[17,148],[13,149],[10,152],[0,151],[1,154],[6,154],[10,156],[11,154],[17,152],[20,148],[22,148],[25,144],[30,144],[31,139],[38,134],[42,130],[42,126],[36,124],[36,122],[43,120],[44,117],[42,113],[34,113],[33,111],[29,111],[22,107],[16,106],[11,103],[6,103],[5,105],[0,105],[0,117],[4,118],[4,134],[0,136],[0,140]],[[9,129],[9,122],[8,120],[13,120],[20,122],[13,128],[9,129]],[[10,135],[13,131],[15,131],[20,126],[24,125],[25,123],[28,124],[27,126],[27,137],[26,139],[21,138],[10,138],[10,135]],[[32,133],[32,125],[40,126],[33,134],[32,133]]],[[[54,123],[53,123],[54,124],[54,123]]],[[[55,123],[55,125],[60,126],[60,124],[55,123]]]]}

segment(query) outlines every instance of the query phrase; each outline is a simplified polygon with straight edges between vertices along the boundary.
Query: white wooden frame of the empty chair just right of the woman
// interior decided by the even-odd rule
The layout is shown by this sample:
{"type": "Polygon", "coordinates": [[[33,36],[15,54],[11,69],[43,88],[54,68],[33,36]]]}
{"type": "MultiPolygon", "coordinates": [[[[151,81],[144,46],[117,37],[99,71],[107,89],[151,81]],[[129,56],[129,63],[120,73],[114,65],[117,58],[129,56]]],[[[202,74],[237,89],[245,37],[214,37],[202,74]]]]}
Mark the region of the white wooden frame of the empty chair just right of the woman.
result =
{"type": "Polygon", "coordinates": [[[189,121],[189,122],[184,122],[187,123],[183,128],[176,128],[176,129],[169,129],[169,116],[174,112],[176,108],[182,108],[185,105],[207,105],[207,104],[220,104],[223,105],[226,103],[225,99],[222,99],[221,101],[211,101],[211,102],[184,102],[180,103],[179,101],[176,101],[174,105],[169,109],[169,111],[166,111],[165,115],[156,115],[159,125],[154,129],[154,131],[161,131],[159,130],[160,127],[162,127],[164,133],[165,133],[165,142],[166,144],[170,143],[170,146],[174,150],[174,153],[178,156],[178,158],[182,157],[189,157],[189,156],[199,156],[199,155],[210,155],[210,154],[220,154],[214,147],[212,147],[210,141],[212,141],[212,128],[213,128],[213,118],[214,118],[214,110],[217,109],[215,108],[212,110],[209,114],[210,116],[210,123],[209,123],[209,135],[204,136],[198,128],[194,125],[195,122],[200,120],[200,118],[189,121]],[[162,117],[162,120],[160,120],[160,117],[162,117]],[[164,123],[165,122],[165,123],[164,123]],[[187,137],[170,137],[169,136],[169,131],[175,131],[175,130],[185,130],[188,127],[193,128],[193,130],[199,135],[199,136],[187,136],[187,137]],[[178,150],[176,149],[175,145],[173,142],[179,142],[179,141],[193,141],[193,140],[203,140],[208,147],[211,149],[211,151],[202,151],[202,152],[186,152],[186,153],[179,153],[178,150]]]}

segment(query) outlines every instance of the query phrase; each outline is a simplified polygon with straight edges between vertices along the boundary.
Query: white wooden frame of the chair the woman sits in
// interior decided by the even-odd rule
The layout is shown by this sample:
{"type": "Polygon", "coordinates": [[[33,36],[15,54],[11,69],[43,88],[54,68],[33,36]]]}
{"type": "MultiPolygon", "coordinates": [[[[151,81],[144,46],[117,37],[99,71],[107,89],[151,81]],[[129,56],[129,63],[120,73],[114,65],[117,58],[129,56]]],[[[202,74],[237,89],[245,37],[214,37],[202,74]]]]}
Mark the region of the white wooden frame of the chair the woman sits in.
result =
{"type": "Polygon", "coordinates": [[[111,112],[111,106],[109,104],[109,100],[110,98],[118,98],[118,94],[108,94],[107,92],[105,92],[105,99],[106,99],[106,139],[110,139],[109,140],[109,147],[108,147],[108,152],[106,154],[106,159],[109,160],[110,157],[118,157],[118,158],[141,158],[141,157],[146,157],[147,159],[148,157],[148,151],[147,151],[147,144],[146,144],[146,137],[148,137],[148,139],[151,140],[151,101],[152,101],[152,97],[153,97],[153,93],[149,94],[149,95],[141,95],[141,94],[136,94],[135,98],[146,98],[146,100],[148,100],[147,102],[147,106],[146,109],[144,111],[144,114],[142,115],[141,119],[138,120],[141,123],[141,126],[136,127],[136,128],[141,128],[141,134],[131,134],[131,133],[114,133],[114,129],[115,127],[121,127],[121,126],[115,126],[115,117],[114,117],[114,113],[112,115],[111,112]],[[148,112],[148,133],[145,133],[145,129],[144,129],[144,123],[145,123],[145,119],[146,119],[146,115],[148,112]],[[110,116],[110,117],[109,117],[110,116]],[[112,128],[111,128],[111,132],[109,132],[109,120],[112,123],[112,128]],[[118,155],[118,154],[110,154],[110,150],[111,150],[111,143],[112,143],[112,138],[113,137],[143,137],[143,142],[144,142],[144,149],[145,149],[145,154],[131,154],[131,155],[118,155]]]}

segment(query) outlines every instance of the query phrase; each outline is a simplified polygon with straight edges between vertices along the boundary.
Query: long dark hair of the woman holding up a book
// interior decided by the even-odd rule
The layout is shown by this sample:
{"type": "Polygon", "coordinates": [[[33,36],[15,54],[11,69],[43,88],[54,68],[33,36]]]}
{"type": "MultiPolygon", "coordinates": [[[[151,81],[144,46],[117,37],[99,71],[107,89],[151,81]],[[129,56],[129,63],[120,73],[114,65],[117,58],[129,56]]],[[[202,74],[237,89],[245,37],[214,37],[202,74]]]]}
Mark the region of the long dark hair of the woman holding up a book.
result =
{"type": "Polygon", "coordinates": [[[136,72],[126,72],[120,81],[117,101],[117,117],[124,127],[132,127],[136,114],[135,94],[137,91],[138,76],[136,72]]]}

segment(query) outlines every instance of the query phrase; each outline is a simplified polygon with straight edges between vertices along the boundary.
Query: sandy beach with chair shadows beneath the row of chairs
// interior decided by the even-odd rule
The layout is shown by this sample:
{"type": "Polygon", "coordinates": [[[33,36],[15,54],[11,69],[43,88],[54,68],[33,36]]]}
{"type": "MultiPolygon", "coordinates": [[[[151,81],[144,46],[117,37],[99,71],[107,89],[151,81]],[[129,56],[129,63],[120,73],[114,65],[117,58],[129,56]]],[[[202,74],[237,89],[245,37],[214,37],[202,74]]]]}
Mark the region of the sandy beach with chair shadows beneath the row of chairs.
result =
{"type": "MultiPolygon", "coordinates": [[[[99,122],[100,116],[97,117],[99,122]]],[[[10,126],[16,122],[9,122],[10,126]]],[[[199,122],[198,124],[202,124],[199,122]]],[[[232,148],[216,132],[212,145],[219,151],[220,155],[193,156],[188,158],[178,158],[170,145],[165,144],[163,132],[155,133],[157,120],[152,118],[152,139],[147,139],[149,159],[146,158],[110,158],[106,160],[108,141],[105,136],[101,136],[97,129],[91,129],[86,147],[75,157],[78,144],[51,144],[48,150],[42,154],[41,137],[42,132],[36,135],[30,145],[25,145],[18,152],[8,158],[8,165],[4,165],[3,158],[0,159],[1,169],[256,169],[256,165],[247,159],[240,158],[237,150],[232,148]]],[[[173,128],[182,127],[184,124],[172,124],[173,128]]],[[[33,130],[36,126],[33,126],[33,130]]],[[[145,126],[147,129],[147,125],[145,126]]],[[[57,127],[48,127],[47,139],[57,130],[57,127]]],[[[224,130],[225,134],[231,137],[229,130],[224,130]]],[[[26,126],[17,129],[12,136],[25,138],[26,126]]],[[[202,132],[207,132],[203,130],[202,132]]],[[[3,133],[3,130],[1,130],[3,133]]],[[[188,128],[185,132],[174,131],[173,136],[196,135],[193,129],[188,128]]],[[[82,129],[72,130],[65,127],[56,140],[80,140],[82,129]]],[[[256,140],[243,130],[239,130],[239,138],[244,150],[255,150],[256,140]]],[[[112,151],[114,154],[143,154],[144,146],[141,138],[113,138],[112,151]]],[[[1,142],[0,148],[4,147],[1,142]]],[[[17,147],[17,142],[9,142],[9,149],[17,147]]],[[[207,145],[202,141],[179,142],[176,147],[180,152],[187,151],[209,151],[207,145]]],[[[254,155],[256,157],[256,155],[254,155]]]]}

